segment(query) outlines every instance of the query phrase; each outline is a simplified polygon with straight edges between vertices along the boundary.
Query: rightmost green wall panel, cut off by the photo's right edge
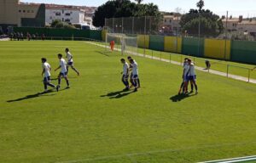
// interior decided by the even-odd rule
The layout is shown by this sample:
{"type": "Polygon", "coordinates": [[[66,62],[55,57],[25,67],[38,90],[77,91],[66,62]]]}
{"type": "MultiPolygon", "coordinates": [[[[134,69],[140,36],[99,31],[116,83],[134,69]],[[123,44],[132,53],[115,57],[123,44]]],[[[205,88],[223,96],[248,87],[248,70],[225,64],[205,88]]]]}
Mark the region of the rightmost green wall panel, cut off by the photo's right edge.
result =
{"type": "Polygon", "coordinates": [[[241,63],[256,64],[256,42],[232,41],[231,60],[241,63]]]}

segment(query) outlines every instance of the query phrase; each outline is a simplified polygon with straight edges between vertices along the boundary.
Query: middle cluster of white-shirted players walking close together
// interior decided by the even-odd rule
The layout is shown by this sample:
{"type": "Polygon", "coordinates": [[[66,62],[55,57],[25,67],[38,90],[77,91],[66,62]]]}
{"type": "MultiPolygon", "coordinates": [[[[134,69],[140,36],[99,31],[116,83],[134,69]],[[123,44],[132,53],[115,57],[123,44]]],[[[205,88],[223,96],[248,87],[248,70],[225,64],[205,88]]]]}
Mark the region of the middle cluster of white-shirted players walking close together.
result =
{"type": "Polygon", "coordinates": [[[132,87],[135,87],[134,92],[137,92],[137,89],[141,87],[140,79],[138,77],[138,65],[135,59],[132,59],[131,56],[127,57],[130,64],[128,64],[125,59],[120,59],[123,64],[123,71],[121,72],[122,82],[125,85],[124,91],[129,91],[132,87]],[[130,73],[131,71],[131,73],[130,73]],[[129,76],[131,86],[129,86],[129,76]]]}

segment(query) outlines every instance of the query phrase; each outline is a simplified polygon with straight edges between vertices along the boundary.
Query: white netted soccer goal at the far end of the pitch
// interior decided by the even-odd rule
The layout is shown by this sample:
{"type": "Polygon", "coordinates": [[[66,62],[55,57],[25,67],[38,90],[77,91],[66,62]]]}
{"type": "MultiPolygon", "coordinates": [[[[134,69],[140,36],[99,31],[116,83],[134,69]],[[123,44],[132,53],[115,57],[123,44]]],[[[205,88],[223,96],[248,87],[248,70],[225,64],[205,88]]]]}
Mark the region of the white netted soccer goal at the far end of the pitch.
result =
{"type": "Polygon", "coordinates": [[[113,45],[113,51],[120,52],[121,54],[137,54],[137,37],[128,36],[121,33],[107,33],[106,34],[106,50],[112,50],[111,45],[113,45]]]}

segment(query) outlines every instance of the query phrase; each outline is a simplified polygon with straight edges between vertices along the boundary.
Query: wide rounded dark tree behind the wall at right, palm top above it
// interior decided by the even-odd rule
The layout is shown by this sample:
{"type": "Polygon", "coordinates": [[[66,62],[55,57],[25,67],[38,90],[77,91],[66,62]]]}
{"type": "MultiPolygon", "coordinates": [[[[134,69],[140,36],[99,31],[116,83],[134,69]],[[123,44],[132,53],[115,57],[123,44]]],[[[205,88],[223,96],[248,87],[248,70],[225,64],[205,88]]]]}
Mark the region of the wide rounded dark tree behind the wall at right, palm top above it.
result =
{"type": "Polygon", "coordinates": [[[197,3],[199,9],[190,9],[188,14],[184,14],[180,20],[180,25],[183,32],[188,32],[189,35],[216,37],[224,31],[222,20],[217,14],[213,14],[209,9],[202,9],[204,6],[203,0],[197,3]]]}

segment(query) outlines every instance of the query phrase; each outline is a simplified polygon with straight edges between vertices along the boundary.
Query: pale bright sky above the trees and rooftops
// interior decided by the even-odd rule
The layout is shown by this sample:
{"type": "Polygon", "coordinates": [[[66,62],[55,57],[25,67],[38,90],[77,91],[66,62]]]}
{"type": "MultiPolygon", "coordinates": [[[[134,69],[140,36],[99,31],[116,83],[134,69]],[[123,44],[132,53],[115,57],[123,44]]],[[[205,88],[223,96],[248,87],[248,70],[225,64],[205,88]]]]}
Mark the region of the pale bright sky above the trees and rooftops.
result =
{"type": "MultiPolygon", "coordinates": [[[[83,6],[100,6],[108,0],[20,0],[24,3],[57,3],[83,6]]],[[[133,0],[131,0],[133,1],[133,0]]],[[[161,11],[173,12],[176,8],[182,8],[182,13],[188,12],[189,8],[195,8],[199,0],[143,0],[143,3],[155,3],[161,11]]],[[[244,17],[256,17],[256,0],[205,0],[205,8],[209,8],[215,14],[244,17]]]]}

